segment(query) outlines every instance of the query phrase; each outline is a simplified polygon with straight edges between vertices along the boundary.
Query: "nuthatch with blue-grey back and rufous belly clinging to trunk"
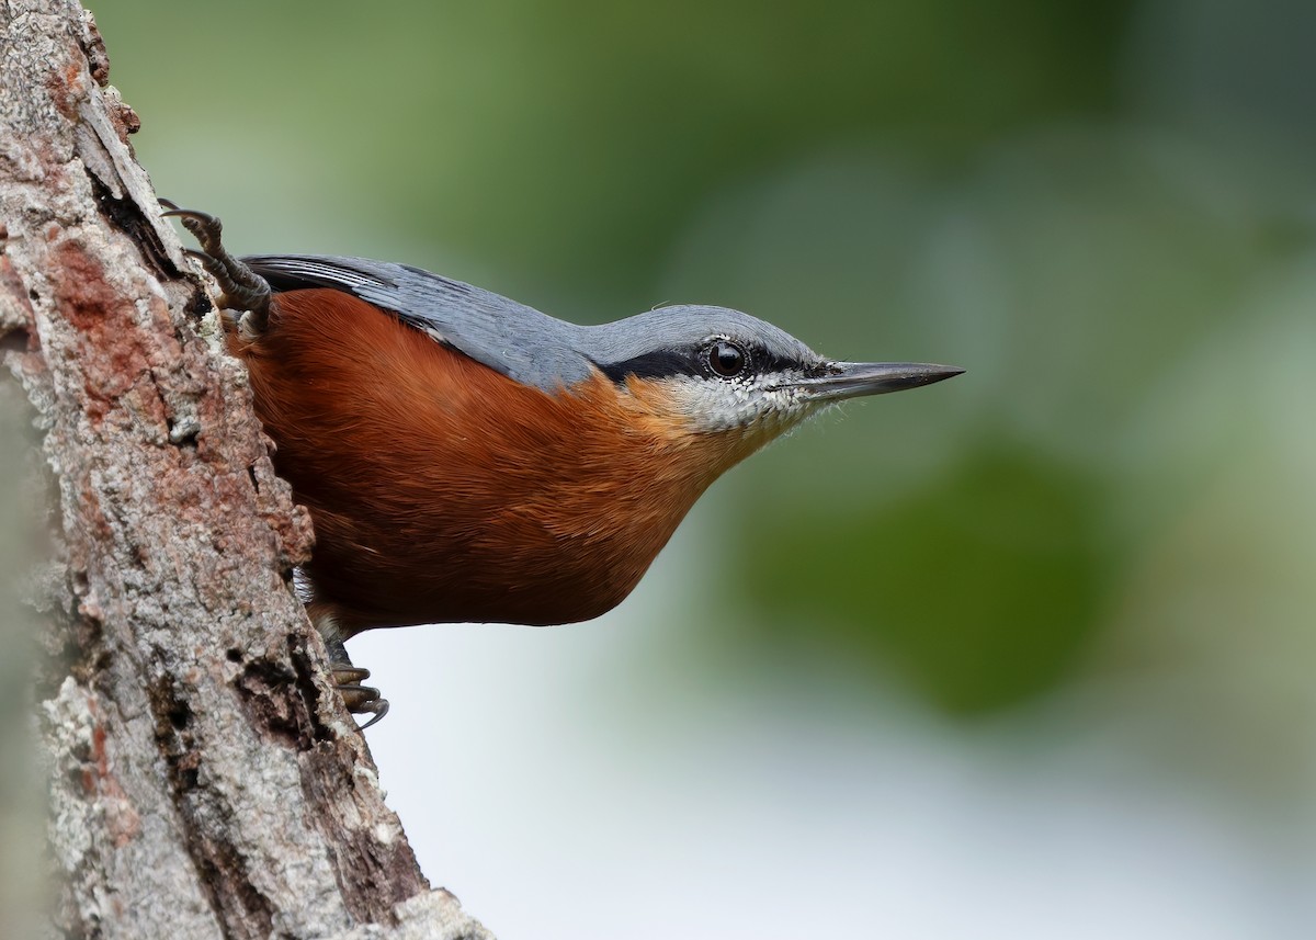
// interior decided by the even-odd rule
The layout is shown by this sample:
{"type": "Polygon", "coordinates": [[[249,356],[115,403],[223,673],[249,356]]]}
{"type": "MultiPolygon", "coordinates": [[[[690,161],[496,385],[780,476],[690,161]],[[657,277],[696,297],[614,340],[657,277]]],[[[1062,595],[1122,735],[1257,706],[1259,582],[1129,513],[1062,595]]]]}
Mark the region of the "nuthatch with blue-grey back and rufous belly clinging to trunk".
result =
{"type": "Polygon", "coordinates": [[[958,375],[836,362],[721,307],[579,326],[362,258],[237,259],[218,280],[275,467],[311,511],[311,619],[355,712],[387,702],[343,640],[374,627],[562,624],[612,610],[725,470],[824,407],[958,375]]]}

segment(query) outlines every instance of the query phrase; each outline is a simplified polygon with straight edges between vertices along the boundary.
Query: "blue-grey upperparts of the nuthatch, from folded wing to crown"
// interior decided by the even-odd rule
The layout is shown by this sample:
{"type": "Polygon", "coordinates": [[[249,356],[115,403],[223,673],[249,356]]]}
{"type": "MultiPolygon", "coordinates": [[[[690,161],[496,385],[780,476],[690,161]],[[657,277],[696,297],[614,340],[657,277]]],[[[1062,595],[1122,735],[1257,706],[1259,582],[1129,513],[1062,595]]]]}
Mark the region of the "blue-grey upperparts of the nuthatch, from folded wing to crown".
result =
{"type": "Polygon", "coordinates": [[[761,350],[797,367],[824,361],[803,342],[740,311],[662,307],[597,326],[558,320],[497,294],[407,265],[337,255],[250,255],[243,262],[275,291],[329,287],[395,312],[404,323],[472,359],[545,391],[665,350],[690,350],[713,337],[761,350]]]}

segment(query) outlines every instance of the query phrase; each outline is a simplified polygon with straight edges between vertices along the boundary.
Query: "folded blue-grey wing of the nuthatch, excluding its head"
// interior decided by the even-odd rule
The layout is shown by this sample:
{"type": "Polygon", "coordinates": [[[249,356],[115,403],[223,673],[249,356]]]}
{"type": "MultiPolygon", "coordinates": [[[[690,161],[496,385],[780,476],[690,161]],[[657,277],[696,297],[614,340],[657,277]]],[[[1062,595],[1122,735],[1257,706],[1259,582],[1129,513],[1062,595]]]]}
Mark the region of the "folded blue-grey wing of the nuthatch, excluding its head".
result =
{"type": "Polygon", "coordinates": [[[588,377],[580,326],[418,267],[337,255],[242,258],[275,292],[328,287],[392,311],[418,330],[517,382],[555,391],[588,377]]]}

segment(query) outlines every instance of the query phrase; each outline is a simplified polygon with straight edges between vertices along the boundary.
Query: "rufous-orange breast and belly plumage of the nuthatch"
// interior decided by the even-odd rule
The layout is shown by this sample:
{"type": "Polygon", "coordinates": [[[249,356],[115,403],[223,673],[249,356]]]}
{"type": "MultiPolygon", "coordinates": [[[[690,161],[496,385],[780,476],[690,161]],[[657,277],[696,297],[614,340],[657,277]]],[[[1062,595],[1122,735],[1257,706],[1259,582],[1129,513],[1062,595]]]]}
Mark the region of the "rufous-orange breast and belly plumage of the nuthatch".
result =
{"type": "Polygon", "coordinates": [[[338,291],[276,295],[268,330],[229,346],[311,509],[312,612],[343,636],[599,616],[738,459],[633,386],[547,394],[338,291]]]}

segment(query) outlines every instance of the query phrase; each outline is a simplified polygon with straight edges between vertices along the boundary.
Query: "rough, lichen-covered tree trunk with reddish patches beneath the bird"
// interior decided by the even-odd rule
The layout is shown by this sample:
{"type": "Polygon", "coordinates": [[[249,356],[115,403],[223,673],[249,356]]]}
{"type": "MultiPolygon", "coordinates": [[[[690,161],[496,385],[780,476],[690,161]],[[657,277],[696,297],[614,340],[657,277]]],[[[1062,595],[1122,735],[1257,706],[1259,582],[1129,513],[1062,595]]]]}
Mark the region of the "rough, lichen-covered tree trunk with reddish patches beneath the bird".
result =
{"type": "Polygon", "coordinates": [[[430,890],[292,587],[312,533],[76,0],[0,0],[0,336],[57,561],[51,933],[490,935],[430,890]]]}

